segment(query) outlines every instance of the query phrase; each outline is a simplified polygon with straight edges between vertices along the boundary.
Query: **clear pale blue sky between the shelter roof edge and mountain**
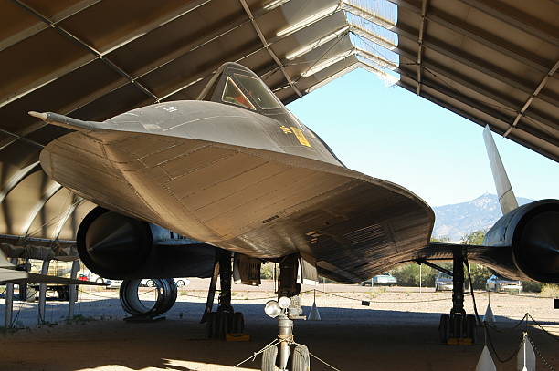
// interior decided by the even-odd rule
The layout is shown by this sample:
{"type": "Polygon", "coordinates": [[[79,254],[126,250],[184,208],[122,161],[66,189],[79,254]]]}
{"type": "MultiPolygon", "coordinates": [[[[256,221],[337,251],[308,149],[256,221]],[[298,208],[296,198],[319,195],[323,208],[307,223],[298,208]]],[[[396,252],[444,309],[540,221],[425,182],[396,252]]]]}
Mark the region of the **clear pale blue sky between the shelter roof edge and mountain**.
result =
{"type": "MultiPolygon", "coordinates": [[[[479,125],[361,68],[288,108],[347,167],[401,184],[431,206],[495,193],[479,125]]],[[[493,138],[516,196],[559,198],[556,162],[493,138]]]]}

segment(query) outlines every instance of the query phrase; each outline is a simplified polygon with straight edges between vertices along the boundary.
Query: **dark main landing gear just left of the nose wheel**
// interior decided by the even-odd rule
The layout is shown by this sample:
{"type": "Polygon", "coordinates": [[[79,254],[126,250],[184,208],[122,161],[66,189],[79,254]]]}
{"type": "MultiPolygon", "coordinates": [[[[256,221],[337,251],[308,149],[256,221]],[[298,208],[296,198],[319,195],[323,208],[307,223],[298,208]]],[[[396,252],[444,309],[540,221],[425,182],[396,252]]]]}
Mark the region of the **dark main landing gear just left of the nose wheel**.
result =
{"type": "Polygon", "coordinates": [[[229,333],[242,333],[245,330],[243,314],[235,312],[231,304],[231,252],[217,250],[216,264],[207,294],[206,310],[201,323],[206,323],[208,338],[225,339],[229,333]],[[212,312],[216,295],[217,276],[219,276],[220,292],[216,312],[212,312]]]}

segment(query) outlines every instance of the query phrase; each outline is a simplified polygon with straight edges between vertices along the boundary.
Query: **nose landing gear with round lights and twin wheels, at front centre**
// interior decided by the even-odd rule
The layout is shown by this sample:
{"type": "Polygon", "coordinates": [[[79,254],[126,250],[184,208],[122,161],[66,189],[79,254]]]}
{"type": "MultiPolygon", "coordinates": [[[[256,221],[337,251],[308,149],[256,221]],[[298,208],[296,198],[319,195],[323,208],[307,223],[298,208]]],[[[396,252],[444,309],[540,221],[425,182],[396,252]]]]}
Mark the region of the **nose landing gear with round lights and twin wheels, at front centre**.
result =
{"type": "Polygon", "coordinates": [[[306,319],[302,314],[301,284],[297,283],[299,257],[290,255],[280,262],[280,285],[278,301],[270,300],[264,309],[266,314],[278,319],[278,345],[269,346],[262,353],[262,371],[308,371],[309,349],[295,343],[293,320],[306,319]],[[293,347],[291,351],[291,347],[293,347]]]}

